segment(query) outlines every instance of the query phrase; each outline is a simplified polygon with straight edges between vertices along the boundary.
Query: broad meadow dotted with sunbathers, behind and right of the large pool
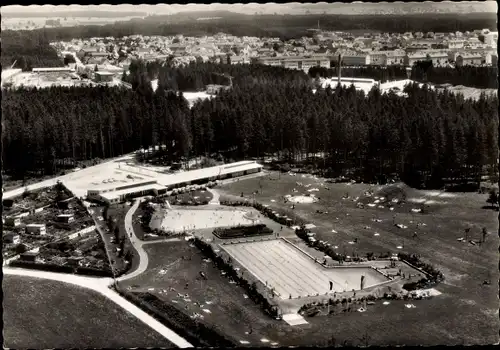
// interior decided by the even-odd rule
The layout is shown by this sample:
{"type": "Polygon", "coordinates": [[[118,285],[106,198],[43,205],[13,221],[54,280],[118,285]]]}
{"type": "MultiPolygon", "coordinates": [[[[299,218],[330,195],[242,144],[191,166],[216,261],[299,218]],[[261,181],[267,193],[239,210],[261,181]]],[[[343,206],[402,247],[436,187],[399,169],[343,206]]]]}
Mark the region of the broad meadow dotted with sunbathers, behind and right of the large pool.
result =
{"type": "MultiPolygon", "coordinates": [[[[255,195],[258,202],[276,210],[290,211],[292,204],[285,203],[283,197],[306,194],[305,186],[319,189],[315,192],[319,201],[296,203],[292,211],[316,226],[313,231],[318,240],[330,242],[347,255],[399,251],[419,254],[422,260],[434,265],[445,276],[445,281],[436,287],[443,294],[432,300],[419,301],[412,316],[403,315],[402,311],[392,314],[388,311],[390,308],[379,313],[372,311],[378,306],[372,307],[366,313],[349,316],[357,320],[352,329],[347,329],[349,327],[344,324],[336,325],[332,329],[334,334],[343,329],[347,332],[344,337],[352,340],[366,328],[373,333],[372,343],[381,345],[394,342],[488,344],[498,341],[498,289],[495,286],[499,277],[498,212],[483,209],[487,195],[419,191],[403,184],[331,184],[310,176],[276,173],[223,185],[217,191],[221,193],[221,200],[239,200],[241,192],[247,199],[253,199],[252,193],[258,190],[255,195]],[[393,199],[402,200],[396,203],[393,199]],[[364,204],[363,208],[358,207],[358,202],[364,204]],[[417,212],[419,209],[423,211],[417,212]],[[483,227],[489,234],[486,244],[481,245],[477,242],[483,227]],[[470,228],[467,238],[475,244],[458,241],[465,237],[467,228],[470,228]],[[483,281],[490,281],[491,285],[484,285],[483,281]],[[442,314],[438,315],[437,310],[442,314]],[[426,312],[434,316],[426,316],[426,312]],[[398,329],[396,325],[406,323],[418,323],[420,329],[398,326],[401,330],[397,334],[384,330],[398,329]],[[394,325],[393,328],[386,328],[388,324],[394,325]]],[[[299,238],[293,242],[314,252],[299,238]]],[[[314,318],[310,322],[317,323],[314,318]]],[[[318,323],[322,322],[323,318],[319,318],[318,323]]]]}

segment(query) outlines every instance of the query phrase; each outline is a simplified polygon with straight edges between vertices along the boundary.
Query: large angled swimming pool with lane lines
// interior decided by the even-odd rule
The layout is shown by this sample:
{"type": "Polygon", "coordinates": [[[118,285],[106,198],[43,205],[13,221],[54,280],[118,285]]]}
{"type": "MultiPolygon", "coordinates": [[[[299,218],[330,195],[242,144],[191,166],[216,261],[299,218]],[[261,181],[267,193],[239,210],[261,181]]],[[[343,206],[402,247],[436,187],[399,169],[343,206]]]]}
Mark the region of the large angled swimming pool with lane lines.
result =
{"type": "Polygon", "coordinates": [[[282,240],[224,245],[222,248],[281,299],[325,295],[387,282],[375,270],[366,268],[326,269],[282,240]],[[333,290],[330,291],[330,281],[333,290]]]}

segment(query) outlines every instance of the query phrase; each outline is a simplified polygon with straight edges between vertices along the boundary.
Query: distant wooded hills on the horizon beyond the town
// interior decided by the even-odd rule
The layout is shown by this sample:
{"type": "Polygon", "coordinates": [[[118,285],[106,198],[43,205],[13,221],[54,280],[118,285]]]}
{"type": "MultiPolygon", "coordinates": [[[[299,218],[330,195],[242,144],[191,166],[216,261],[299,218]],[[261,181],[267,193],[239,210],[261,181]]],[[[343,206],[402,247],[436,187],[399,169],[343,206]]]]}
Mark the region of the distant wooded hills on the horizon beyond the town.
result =
{"type": "MultiPolygon", "coordinates": [[[[216,17],[215,14],[207,15],[216,17]]],[[[118,21],[102,26],[84,25],[65,28],[41,28],[19,31],[22,35],[45,35],[49,42],[56,40],[87,39],[91,37],[123,37],[134,34],[175,36],[211,35],[219,32],[236,36],[279,37],[293,39],[308,35],[308,29],[316,28],[318,21],[323,30],[403,32],[455,32],[473,31],[479,28],[496,29],[496,18],[491,13],[471,14],[412,14],[412,15],[244,15],[221,13],[219,19],[197,21],[199,16],[189,13],[149,16],[144,19],[118,21]]],[[[2,31],[4,36],[12,30],[2,31]]],[[[3,44],[3,43],[2,43],[3,44]]]]}

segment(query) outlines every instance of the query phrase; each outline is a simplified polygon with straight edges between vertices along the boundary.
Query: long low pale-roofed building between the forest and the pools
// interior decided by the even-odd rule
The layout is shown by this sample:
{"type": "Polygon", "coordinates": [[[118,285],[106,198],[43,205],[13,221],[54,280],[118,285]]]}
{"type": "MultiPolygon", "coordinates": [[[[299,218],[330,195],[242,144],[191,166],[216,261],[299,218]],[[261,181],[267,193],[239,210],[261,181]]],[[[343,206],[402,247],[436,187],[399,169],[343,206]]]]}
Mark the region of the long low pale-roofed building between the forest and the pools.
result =
{"type": "Polygon", "coordinates": [[[188,185],[202,185],[209,181],[224,180],[262,171],[262,165],[255,161],[241,161],[210,168],[183,171],[164,175],[158,173],[156,179],[136,181],[126,185],[103,184],[87,190],[87,198],[109,204],[120,203],[134,197],[161,195],[167,190],[188,185]]]}

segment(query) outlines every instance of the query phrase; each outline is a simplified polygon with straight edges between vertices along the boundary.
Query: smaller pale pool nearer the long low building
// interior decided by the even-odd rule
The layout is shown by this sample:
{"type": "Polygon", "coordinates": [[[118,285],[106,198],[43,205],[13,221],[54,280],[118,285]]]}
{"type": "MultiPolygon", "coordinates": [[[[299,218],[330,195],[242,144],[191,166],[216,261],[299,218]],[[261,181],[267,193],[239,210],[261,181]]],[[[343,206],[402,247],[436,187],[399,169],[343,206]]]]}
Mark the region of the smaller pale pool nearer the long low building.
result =
{"type": "Polygon", "coordinates": [[[165,209],[151,218],[151,229],[184,232],[215,227],[249,226],[260,223],[246,210],[165,209]]]}

